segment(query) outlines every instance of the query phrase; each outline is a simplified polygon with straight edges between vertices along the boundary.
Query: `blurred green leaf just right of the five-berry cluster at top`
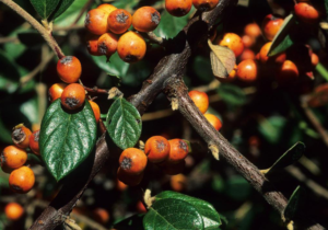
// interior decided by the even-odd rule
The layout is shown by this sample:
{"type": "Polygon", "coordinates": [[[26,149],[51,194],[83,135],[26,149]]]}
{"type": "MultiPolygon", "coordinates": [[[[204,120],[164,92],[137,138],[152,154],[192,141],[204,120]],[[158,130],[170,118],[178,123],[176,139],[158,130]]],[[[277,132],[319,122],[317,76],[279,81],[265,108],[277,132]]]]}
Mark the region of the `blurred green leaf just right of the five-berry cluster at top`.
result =
{"type": "MultiPolygon", "coordinates": [[[[190,12],[192,11],[192,9],[190,10],[190,12]]],[[[159,24],[154,33],[160,37],[175,37],[188,23],[190,12],[185,16],[177,18],[171,15],[167,11],[164,11],[161,14],[161,23],[159,24]]]]}

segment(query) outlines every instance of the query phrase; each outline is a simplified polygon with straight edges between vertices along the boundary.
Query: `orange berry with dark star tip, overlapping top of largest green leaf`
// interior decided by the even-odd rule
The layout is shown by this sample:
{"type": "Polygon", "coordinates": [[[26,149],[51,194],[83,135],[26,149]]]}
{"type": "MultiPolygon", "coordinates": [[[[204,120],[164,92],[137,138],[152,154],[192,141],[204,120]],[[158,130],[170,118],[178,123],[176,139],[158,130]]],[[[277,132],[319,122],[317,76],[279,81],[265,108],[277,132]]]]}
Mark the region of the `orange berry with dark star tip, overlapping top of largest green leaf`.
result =
{"type": "Polygon", "coordinates": [[[61,94],[61,104],[66,108],[73,111],[81,107],[84,104],[85,91],[81,84],[69,84],[61,94]]]}

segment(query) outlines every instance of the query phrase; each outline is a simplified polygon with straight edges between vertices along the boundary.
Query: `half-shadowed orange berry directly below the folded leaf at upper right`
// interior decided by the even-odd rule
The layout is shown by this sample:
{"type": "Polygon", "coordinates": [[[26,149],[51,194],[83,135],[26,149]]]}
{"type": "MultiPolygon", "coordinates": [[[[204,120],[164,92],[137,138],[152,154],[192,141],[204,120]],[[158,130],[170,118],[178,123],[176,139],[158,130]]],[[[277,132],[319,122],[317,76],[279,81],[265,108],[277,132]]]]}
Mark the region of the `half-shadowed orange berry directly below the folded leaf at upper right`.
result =
{"type": "Polygon", "coordinates": [[[281,68],[279,69],[279,73],[277,76],[277,80],[280,84],[289,84],[295,81],[298,77],[298,69],[296,65],[291,60],[285,60],[281,68]]]}

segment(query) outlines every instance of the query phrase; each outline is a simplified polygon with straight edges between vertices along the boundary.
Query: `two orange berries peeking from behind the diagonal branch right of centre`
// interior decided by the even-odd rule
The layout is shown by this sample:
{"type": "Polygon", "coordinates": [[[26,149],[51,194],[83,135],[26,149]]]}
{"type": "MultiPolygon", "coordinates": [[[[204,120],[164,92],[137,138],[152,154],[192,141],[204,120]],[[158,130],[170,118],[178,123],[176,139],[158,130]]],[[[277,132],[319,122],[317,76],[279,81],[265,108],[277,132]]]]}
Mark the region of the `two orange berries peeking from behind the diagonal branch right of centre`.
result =
{"type": "Polygon", "coordinates": [[[200,113],[202,113],[207,120],[219,131],[222,127],[221,120],[215,115],[207,113],[210,103],[208,94],[197,90],[191,90],[188,94],[200,113]]]}

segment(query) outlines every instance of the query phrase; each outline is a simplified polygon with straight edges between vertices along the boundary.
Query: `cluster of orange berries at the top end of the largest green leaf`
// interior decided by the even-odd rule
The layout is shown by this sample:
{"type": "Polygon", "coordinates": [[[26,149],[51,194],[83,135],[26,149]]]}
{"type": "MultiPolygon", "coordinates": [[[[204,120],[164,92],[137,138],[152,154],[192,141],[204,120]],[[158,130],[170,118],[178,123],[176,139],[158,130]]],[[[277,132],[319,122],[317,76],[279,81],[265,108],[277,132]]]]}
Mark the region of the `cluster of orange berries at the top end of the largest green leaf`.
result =
{"type": "MultiPolygon", "coordinates": [[[[49,88],[48,95],[49,101],[54,102],[57,99],[61,100],[61,104],[69,111],[74,111],[81,107],[85,101],[84,88],[75,83],[82,73],[82,66],[80,60],[74,56],[65,56],[57,62],[57,73],[61,81],[66,83],[55,83],[49,88]]],[[[99,106],[89,101],[96,122],[101,118],[99,106]]]]}

